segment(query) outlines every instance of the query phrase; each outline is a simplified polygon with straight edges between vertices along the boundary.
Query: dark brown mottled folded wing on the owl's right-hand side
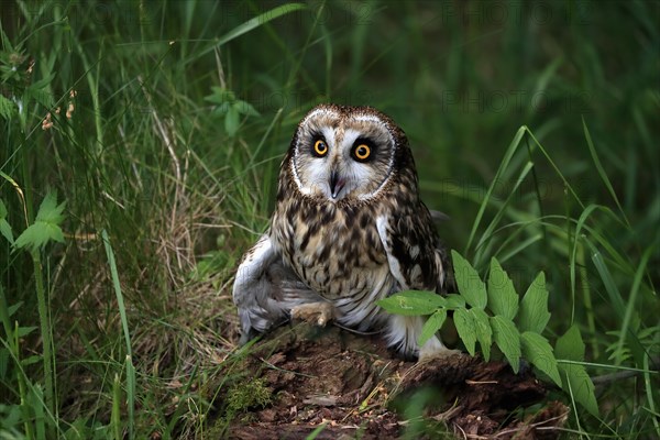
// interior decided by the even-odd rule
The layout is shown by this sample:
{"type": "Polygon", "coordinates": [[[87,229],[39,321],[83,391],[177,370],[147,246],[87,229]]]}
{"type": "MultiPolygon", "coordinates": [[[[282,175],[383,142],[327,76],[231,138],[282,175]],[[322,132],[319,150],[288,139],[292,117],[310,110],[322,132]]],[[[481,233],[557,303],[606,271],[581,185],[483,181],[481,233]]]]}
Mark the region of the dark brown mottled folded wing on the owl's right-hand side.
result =
{"type": "Polygon", "coordinates": [[[415,210],[380,216],[376,227],[399,290],[446,290],[450,264],[424,204],[415,210]]]}

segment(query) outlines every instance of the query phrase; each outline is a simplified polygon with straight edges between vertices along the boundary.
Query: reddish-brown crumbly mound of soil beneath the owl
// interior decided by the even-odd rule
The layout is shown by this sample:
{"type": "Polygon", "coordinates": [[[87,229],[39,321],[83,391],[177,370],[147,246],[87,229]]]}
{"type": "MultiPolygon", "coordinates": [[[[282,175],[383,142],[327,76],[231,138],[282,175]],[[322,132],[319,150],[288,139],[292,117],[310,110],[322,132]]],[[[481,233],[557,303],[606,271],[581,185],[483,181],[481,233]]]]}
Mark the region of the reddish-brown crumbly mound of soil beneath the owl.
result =
{"type": "Polygon", "coordinates": [[[468,354],[404,361],[378,336],[332,326],[284,327],[250,352],[241,369],[272,398],[238,416],[229,438],[305,439],[317,428],[316,439],[438,438],[435,422],[458,438],[553,439],[568,415],[528,369],[468,354]]]}

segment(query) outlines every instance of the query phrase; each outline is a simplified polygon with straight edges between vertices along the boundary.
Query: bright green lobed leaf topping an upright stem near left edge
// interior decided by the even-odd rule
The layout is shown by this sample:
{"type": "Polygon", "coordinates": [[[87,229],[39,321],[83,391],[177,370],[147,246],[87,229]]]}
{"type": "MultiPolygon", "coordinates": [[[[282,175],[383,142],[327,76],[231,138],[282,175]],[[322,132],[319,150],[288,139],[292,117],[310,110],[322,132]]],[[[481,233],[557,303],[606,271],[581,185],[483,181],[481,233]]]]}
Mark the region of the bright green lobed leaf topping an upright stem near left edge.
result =
{"type": "Polygon", "coordinates": [[[36,251],[45,246],[50,241],[64,242],[64,234],[59,223],[64,220],[63,211],[66,202],[57,205],[57,196],[48,191],[42,201],[36,219],[16,239],[14,249],[29,248],[36,251]]]}

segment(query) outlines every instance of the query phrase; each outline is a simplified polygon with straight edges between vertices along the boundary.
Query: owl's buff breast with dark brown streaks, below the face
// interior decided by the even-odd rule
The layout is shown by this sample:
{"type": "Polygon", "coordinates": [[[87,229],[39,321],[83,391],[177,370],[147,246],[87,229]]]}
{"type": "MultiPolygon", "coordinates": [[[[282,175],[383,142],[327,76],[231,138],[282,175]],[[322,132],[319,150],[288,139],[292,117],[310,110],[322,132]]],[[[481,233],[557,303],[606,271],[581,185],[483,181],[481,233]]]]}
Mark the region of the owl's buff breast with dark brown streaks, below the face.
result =
{"type": "Polygon", "coordinates": [[[285,261],[327,299],[387,290],[387,255],[369,205],[296,198],[278,204],[271,233],[285,261]]]}

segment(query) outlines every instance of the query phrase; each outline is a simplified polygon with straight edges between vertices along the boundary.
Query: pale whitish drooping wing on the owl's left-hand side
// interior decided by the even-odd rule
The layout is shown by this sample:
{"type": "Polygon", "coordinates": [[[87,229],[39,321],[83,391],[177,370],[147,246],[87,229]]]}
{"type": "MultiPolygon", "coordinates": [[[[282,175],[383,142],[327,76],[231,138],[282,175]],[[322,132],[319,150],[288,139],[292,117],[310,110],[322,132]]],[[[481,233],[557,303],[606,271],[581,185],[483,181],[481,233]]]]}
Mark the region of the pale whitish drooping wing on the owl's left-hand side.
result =
{"type": "Polygon", "coordinates": [[[243,256],[232,295],[241,320],[241,344],[255,332],[263,333],[286,322],[293,307],[319,300],[284,263],[267,233],[243,256]]]}

